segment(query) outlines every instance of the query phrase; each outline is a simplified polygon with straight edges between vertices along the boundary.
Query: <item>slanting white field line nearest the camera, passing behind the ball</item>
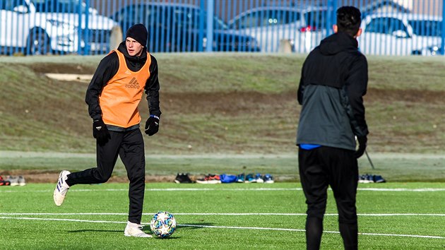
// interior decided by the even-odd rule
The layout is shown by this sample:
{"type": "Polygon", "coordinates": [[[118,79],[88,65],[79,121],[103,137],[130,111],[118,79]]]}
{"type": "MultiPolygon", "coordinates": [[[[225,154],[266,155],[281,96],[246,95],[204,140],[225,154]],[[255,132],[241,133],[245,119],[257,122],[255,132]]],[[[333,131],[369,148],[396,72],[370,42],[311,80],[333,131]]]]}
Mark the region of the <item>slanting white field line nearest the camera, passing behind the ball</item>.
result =
{"type": "MultiPolygon", "coordinates": [[[[16,217],[0,217],[0,219],[11,219],[11,220],[56,220],[56,221],[70,221],[70,222],[90,222],[90,223],[118,223],[125,224],[126,222],[118,221],[107,221],[107,220],[75,220],[75,219],[59,219],[59,218],[16,218],[16,217]]],[[[227,228],[227,229],[238,229],[238,230],[274,230],[274,231],[287,231],[287,232],[305,232],[302,229],[292,229],[292,228],[273,228],[273,227],[228,227],[228,226],[208,226],[208,225],[181,225],[181,227],[208,227],[208,228],[227,228]]],[[[325,233],[340,234],[336,231],[324,231],[325,233]]],[[[413,237],[413,238],[429,238],[429,239],[445,239],[441,236],[431,236],[431,235],[416,235],[416,234],[377,234],[377,233],[366,233],[360,232],[362,235],[374,235],[374,236],[389,236],[389,237],[413,237]]]]}

